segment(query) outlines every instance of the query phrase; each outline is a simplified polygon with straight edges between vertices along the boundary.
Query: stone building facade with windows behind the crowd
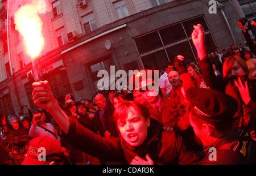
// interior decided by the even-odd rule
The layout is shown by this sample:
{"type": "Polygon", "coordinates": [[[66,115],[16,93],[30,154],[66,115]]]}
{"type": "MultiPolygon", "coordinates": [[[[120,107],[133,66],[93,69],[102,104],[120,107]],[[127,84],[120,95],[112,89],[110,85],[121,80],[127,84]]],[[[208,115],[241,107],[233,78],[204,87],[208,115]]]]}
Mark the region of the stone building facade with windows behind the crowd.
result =
{"type": "MultiPolygon", "coordinates": [[[[6,24],[7,1],[0,3],[0,113],[18,113],[32,103],[31,60],[13,16],[6,24]],[[8,37],[7,37],[8,36],[8,37]]],[[[193,25],[205,28],[208,52],[233,43],[222,14],[209,14],[208,0],[57,0],[52,11],[41,15],[45,47],[38,58],[42,80],[48,80],[61,102],[66,93],[76,100],[97,92],[99,70],[151,68],[163,70],[174,56],[196,62],[191,41],[193,25]]],[[[255,19],[256,3],[240,1],[247,18],[255,19]]],[[[238,15],[230,2],[224,12],[236,37],[244,42],[237,26],[238,15]]]]}

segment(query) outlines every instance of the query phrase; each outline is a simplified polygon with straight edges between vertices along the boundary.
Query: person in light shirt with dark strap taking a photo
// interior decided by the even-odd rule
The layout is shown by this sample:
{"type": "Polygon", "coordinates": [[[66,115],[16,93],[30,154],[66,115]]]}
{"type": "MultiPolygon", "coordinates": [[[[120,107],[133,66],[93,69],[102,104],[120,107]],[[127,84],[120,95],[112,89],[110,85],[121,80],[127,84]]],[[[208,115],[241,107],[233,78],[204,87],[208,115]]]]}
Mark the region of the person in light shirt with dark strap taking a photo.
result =
{"type": "Polygon", "coordinates": [[[46,114],[42,110],[35,110],[33,114],[32,126],[28,135],[30,138],[38,136],[49,136],[52,139],[59,140],[56,129],[51,123],[44,123],[46,114]]]}

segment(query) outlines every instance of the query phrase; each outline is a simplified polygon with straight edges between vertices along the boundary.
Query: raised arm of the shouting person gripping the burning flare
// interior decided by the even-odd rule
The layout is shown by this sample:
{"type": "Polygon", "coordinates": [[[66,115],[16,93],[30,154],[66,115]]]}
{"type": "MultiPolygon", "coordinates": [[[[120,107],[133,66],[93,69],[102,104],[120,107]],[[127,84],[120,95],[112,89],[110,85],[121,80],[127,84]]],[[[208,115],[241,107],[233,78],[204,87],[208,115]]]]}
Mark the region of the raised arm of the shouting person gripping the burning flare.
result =
{"type": "Polygon", "coordinates": [[[81,126],[76,120],[69,119],[55,99],[48,81],[33,83],[33,88],[34,104],[49,111],[69,143],[98,158],[117,160],[118,157],[122,157],[122,149],[117,138],[102,138],[81,126]]]}

